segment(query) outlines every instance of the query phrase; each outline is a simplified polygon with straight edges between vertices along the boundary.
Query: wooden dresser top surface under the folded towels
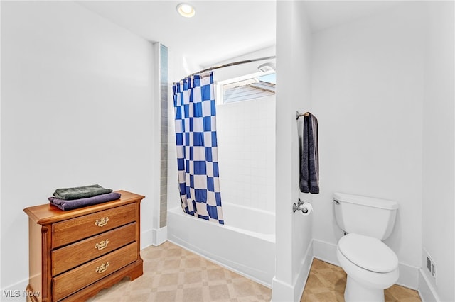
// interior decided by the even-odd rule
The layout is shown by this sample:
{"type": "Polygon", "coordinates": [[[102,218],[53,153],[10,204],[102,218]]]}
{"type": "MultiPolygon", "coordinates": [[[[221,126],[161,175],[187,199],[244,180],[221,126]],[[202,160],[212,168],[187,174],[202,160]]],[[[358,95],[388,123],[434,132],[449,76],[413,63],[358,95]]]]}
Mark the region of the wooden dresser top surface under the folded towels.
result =
{"type": "Polygon", "coordinates": [[[107,201],[105,203],[100,203],[94,206],[75,208],[74,210],[70,211],[62,211],[60,208],[50,203],[24,208],[23,211],[26,212],[26,214],[34,222],[45,225],[48,223],[55,223],[61,220],[67,220],[85,214],[106,210],[108,208],[114,208],[116,206],[123,206],[128,203],[140,202],[144,198],[144,196],[128,191],[119,190],[116,192],[122,194],[122,196],[120,196],[120,198],[116,201],[107,201]]]}

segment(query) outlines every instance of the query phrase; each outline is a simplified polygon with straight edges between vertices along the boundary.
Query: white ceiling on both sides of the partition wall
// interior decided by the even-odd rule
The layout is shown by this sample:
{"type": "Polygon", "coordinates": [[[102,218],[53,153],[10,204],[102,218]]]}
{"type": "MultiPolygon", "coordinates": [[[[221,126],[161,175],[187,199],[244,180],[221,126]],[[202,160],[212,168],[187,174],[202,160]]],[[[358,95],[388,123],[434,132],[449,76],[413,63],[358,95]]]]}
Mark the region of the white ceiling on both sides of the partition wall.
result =
{"type": "MultiPolygon", "coordinates": [[[[186,0],[185,0],[186,1],[186,0]]],[[[282,1],[282,0],[278,0],[282,1]]],[[[178,52],[193,65],[209,67],[275,45],[273,0],[189,1],[196,16],[176,12],[182,1],[78,1],[117,25],[178,52]]],[[[318,31],[394,6],[398,1],[303,1],[312,30],[318,31]]]]}

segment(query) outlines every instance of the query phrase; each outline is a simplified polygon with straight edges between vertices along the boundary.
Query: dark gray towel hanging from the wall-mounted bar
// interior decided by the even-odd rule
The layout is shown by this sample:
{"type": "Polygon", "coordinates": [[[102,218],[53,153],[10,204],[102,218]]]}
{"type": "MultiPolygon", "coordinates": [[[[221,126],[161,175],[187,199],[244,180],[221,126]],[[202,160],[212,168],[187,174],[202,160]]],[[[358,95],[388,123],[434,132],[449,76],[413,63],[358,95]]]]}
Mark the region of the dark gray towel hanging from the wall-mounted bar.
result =
{"type": "Polygon", "coordinates": [[[300,191],[302,193],[319,194],[318,120],[311,113],[304,117],[300,191]]]}

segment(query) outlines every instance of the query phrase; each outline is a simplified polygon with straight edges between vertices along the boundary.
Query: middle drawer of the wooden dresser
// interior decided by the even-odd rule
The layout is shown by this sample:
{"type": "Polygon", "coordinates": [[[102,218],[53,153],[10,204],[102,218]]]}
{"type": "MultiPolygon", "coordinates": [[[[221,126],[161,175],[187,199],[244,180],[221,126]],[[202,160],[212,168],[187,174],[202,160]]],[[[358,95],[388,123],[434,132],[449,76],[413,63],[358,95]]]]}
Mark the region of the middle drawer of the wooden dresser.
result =
{"type": "Polygon", "coordinates": [[[52,276],[89,262],[136,240],[137,223],[109,230],[95,237],[52,251],[52,276]]]}

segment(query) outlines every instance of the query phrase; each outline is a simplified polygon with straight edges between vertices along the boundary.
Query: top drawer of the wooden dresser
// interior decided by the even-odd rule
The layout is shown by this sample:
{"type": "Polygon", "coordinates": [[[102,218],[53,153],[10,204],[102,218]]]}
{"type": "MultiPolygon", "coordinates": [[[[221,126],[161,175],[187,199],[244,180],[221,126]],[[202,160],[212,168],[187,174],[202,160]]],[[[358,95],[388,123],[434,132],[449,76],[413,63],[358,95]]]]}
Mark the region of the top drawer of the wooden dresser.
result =
{"type": "Polygon", "coordinates": [[[85,216],[52,224],[52,247],[61,247],[126,225],[136,220],[137,204],[130,203],[117,208],[109,208],[85,216]]]}

